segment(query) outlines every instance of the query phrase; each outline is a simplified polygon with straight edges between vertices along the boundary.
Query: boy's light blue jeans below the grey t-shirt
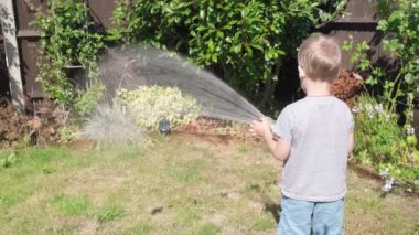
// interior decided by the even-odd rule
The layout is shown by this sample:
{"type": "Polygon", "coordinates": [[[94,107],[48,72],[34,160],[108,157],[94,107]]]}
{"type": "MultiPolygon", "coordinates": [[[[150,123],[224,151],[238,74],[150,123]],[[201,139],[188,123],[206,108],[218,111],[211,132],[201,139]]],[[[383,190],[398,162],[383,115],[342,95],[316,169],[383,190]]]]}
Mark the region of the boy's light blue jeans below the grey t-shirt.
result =
{"type": "Polygon", "coordinates": [[[343,234],[344,200],[307,202],[282,196],[278,235],[343,234]]]}

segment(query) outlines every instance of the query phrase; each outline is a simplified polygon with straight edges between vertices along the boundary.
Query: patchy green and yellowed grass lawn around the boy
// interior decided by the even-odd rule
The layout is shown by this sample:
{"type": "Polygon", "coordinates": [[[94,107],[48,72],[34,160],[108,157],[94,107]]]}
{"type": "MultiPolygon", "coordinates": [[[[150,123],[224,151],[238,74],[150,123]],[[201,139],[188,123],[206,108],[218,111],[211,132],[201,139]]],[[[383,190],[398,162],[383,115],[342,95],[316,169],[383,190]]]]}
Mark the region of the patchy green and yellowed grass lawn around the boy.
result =
{"type": "MultiPolygon", "coordinates": [[[[22,149],[0,168],[0,234],[275,234],[280,171],[246,140],[22,149]]],[[[419,234],[419,199],[380,186],[350,170],[346,234],[419,234]]]]}

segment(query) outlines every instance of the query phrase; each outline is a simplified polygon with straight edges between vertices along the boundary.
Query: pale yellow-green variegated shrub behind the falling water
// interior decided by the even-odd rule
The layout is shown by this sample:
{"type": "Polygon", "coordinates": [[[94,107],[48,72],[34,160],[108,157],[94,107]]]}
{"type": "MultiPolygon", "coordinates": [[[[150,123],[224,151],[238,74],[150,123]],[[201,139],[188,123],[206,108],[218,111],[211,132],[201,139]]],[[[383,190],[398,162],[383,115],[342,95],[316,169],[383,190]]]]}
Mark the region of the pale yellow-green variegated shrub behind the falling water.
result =
{"type": "Polygon", "coordinates": [[[171,125],[187,124],[195,120],[201,106],[191,96],[185,96],[178,87],[141,86],[136,90],[122,89],[117,102],[127,105],[128,111],[136,117],[136,124],[157,129],[159,121],[166,119],[171,125]]]}

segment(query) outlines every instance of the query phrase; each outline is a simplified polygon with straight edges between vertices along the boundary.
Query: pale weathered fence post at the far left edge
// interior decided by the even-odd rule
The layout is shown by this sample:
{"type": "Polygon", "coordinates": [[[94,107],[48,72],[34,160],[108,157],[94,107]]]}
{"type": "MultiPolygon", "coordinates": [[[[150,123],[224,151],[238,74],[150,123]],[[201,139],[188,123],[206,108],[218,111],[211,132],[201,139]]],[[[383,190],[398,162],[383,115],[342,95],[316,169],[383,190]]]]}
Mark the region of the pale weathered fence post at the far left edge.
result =
{"type": "Polygon", "coordinates": [[[9,85],[12,95],[12,104],[20,110],[24,110],[24,94],[22,74],[20,70],[20,54],[17,39],[17,23],[14,20],[12,0],[2,0],[0,3],[1,28],[4,36],[6,65],[9,71],[9,85]]]}

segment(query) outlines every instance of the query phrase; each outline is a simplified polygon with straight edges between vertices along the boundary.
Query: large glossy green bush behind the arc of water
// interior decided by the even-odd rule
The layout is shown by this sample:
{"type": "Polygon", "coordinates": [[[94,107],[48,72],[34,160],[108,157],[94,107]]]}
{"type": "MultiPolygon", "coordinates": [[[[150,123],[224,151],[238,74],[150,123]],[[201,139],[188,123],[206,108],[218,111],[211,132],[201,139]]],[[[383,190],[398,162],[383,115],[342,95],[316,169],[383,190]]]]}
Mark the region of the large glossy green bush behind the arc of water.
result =
{"type": "Polygon", "coordinates": [[[119,0],[111,35],[189,54],[268,109],[282,60],[345,2],[119,0]]]}

